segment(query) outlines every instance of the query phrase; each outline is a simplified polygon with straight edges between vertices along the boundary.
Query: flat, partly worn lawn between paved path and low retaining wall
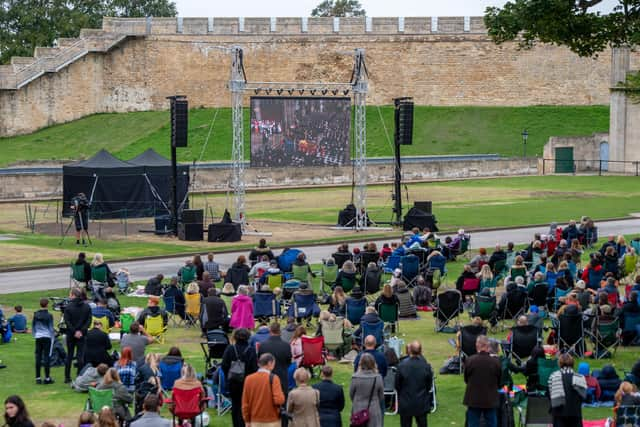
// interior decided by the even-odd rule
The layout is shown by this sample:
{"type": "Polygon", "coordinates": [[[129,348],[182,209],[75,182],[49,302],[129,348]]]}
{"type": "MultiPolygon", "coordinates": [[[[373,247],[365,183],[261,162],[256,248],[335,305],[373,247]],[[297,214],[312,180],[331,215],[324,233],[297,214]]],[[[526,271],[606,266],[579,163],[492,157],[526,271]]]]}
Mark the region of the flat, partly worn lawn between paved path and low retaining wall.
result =
{"type": "MultiPolygon", "coordinates": [[[[638,212],[640,206],[637,177],[532,176],[463,180],[409,184],[407,191],[410,200],[431,199],[438,226],[449,232],[460,227],[478,229],[546,224],[552,221],[566,223],[572,218],[579,219],[582,215],[596,220],[624,217],[638,212]]],[[[337,212],[347,203],[350,194],[351,189],[347,187],[251,192],[247,194],[246,209],[250,221],[264,221],[260,229],[273,232],[273,237],[269,238],[273,246],[366,240],[398,234],[398,231],[371,231],[366,234],[329,232],[328,227],[307,227],[306,224],[335,224],[337,212]],[[293,225],[301,231],[292,232],[290,229],[293,225]]],[[[196,195],[192,206],[214,206],[218,212],[225,200],[224,194],[196,195]]],[[[406,201],[404,202],[406,212],[406,201]]],[[[374,221],[391,219],[389,186],[371,186],[368,189],[368,208],[374,221]]],[[[55,210],[50,210],[47,215],[55,218],[55,210]]],[[[45,222],[48,220],[48,217],[39,219],[45,222]]],[[[63,245],[59,246],[58,236],[26,233],[23,231],[23,224],[22,206],[0,212],[0,232],[17,232],[18,235],[17,240],[0,241],[0,248],[7,248],[4,253],[0,251],[0,263],[3,265],[60,263],[67,262],[74,256],[77,247],[72,236],[68,236],[63,245]],[[29,256],[29,253],[22,256],[17,252],[21,248],[29,248],[30,251],[41,249],[42,252],[36,258],[29,256]]],[[[94,223],[93,233],[95,229],[94,223]]],[[[101,251],[107,259],[113,260],[193,251],[245,249],[253,246],[257,239],[255,236],[245,236],[244,242],[240,244],[190,244],[175,239],[144,236],[137,233],[134,227],[131,227],[129,233],[129,237],[103,235],[101,239],[94,235],[94,245],[88,249],[101,251]]]]}

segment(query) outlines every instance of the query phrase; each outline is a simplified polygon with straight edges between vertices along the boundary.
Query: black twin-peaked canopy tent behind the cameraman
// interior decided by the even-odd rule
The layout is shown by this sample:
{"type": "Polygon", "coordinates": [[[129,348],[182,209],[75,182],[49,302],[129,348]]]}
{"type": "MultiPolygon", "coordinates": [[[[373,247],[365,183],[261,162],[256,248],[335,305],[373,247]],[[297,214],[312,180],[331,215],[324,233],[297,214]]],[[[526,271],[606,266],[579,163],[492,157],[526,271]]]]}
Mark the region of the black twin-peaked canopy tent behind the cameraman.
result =
{"type": "MultiPolygon", "coordinates": [[[[92,218],[141,218],[169,213],[171,162],[149,149],[131,161],[105,150],[62,168],[63,214],[71,199],[84,193],[92,218]]],[[[178,166],[178,202],[188,208],[189,166],[178,166]],[[183,203],[184,202],[184,203],[183,203]]]]}

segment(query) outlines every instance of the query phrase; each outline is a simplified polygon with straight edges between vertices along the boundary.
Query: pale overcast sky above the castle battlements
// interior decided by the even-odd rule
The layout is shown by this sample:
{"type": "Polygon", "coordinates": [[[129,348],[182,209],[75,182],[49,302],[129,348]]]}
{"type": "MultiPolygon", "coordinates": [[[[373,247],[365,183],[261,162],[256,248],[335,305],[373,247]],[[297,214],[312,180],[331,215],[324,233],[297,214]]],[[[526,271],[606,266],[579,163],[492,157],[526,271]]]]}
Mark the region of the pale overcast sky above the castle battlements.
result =
{"type": "MultiPolygon", "coordinates": [[[[174,0],[183,17],[309,16],[322,0],[174,0]]],[[[368,16],[482,16],[505,0],[360,0],[368,16]]],[[[596,10],[610,11],[618,0],[604,0],[596,10]]]]}

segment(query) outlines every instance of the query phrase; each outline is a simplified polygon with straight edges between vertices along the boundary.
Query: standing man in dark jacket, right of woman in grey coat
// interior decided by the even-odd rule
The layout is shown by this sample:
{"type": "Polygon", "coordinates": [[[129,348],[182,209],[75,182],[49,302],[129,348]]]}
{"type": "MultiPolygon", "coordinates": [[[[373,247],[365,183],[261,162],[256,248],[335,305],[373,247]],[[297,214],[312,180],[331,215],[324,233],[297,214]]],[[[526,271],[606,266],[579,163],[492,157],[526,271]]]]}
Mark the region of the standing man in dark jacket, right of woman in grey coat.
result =
{"type": "Polygon", "coordinates": [[[422,356],[422,344],[413,341],[408,346],[409,357],[398,365],[396,390],[400,426],[411,427],[413,418],[418,427],[427,427],[427,413],[431,410],[429,390],[433,385],[433,370],[422,356]]]}

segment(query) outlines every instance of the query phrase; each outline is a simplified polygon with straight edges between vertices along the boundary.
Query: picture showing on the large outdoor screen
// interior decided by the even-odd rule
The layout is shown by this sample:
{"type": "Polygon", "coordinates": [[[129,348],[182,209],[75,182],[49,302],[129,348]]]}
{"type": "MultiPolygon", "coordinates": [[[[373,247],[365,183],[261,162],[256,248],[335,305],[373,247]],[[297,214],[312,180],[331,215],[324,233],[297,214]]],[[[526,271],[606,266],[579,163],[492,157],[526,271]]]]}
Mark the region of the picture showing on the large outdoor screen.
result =
{"type": "Polygon", "coordinates": [[[251,98],[251,166],[342,166],[351,159],[349,98],[251,98]]]}

